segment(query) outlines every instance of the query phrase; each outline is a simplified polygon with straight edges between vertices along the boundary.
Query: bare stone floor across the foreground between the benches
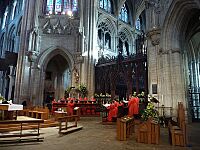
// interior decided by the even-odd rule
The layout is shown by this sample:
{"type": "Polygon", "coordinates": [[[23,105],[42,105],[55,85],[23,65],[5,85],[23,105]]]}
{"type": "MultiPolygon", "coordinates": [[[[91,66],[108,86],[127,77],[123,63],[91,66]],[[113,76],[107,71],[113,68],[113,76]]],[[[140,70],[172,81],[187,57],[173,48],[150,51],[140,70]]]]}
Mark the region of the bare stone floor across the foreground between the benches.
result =
{"type": "Polygon", "coordinates": [[[127,141],[116,140],[116,125],[102,125],[101,118],[81,118],[83,129],[59,136],[58,127],[41,129],[43,142],[1,144],[0,150],[200,150],[200,124],[188,125],[187,147],[171,146],[166,128],[161,128],[159,145],[136,143],[134,134],[127,141]]]}

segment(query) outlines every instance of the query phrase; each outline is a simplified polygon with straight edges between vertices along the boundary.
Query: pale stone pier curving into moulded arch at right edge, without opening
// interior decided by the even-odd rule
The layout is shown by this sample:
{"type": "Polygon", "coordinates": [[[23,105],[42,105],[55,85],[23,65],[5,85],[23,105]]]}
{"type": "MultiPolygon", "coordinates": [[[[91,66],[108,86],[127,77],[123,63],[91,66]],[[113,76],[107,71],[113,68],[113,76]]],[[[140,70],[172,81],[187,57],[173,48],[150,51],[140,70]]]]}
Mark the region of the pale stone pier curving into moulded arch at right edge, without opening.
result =
{"type": "Polygon", "coordinates": [[[177,108],[179,101],[188,107],[188,74],[183,55],[188,42],[186,40],[188,24],[198,9],[200,6],[195,0],[173,1],[164,20],[158,78],[165,104],[173,108],[177,108]]]}

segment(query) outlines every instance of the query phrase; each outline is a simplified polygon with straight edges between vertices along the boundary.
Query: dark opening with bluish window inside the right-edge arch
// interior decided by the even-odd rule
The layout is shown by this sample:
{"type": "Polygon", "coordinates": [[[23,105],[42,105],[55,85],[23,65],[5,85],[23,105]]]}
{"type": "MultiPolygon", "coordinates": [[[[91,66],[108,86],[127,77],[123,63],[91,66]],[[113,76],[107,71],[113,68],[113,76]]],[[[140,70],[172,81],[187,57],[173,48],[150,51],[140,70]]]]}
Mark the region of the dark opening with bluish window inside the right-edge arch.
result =
{"type": "Polygon", "coordinates": [[[185,60],[192,121],[200,121],[200,9],[194,9],[186,30],[185,60]]]}

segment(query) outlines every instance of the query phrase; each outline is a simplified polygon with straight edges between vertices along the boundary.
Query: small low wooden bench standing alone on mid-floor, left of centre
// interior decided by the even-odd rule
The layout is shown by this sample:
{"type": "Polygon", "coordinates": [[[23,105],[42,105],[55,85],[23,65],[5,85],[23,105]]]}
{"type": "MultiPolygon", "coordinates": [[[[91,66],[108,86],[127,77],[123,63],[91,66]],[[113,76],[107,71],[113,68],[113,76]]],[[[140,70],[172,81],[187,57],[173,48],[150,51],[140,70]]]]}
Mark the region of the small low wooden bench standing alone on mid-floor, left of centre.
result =
{"type": "Polygon", "coordinates": [[[65,117],[60,117],[58,118],[58,122],[59,122],[59,134],[67,134],[67,133],[71,133],[73,131],[77,131],[82,129],[82,126],[78,126],[78,119],[79,116],[78,115],[72,115],[72,116],[65,116],[65,117]],[[69,125],[69,122],[74,122],[74,124],[69,125]]]}

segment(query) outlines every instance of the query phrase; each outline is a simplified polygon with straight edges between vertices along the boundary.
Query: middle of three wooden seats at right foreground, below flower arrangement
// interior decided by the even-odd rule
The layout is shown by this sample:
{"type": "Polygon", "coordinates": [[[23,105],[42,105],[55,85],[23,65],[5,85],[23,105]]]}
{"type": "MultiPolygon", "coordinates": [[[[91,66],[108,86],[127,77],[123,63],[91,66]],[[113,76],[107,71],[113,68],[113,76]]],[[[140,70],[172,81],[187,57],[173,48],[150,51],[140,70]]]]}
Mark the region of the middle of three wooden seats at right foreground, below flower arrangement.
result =
{"type": "Polygon", "coordinates": [[[152,122],[151,119],[139,124],[136,130],[136,140],[138,143],[159,144],[160,125],[152,122]]]}

